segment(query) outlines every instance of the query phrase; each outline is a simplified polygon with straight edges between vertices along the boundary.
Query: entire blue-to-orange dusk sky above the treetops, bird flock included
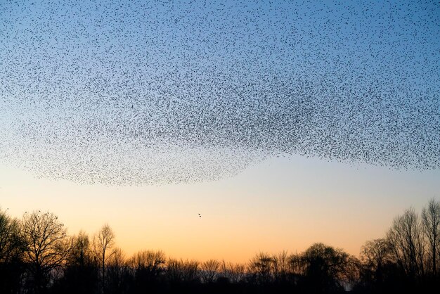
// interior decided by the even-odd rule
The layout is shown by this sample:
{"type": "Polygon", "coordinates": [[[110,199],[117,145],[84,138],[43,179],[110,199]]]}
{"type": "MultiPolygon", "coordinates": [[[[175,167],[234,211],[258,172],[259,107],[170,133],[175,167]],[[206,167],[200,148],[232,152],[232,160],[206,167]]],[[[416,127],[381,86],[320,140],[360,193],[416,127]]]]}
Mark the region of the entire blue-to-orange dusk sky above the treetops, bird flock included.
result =
{"type": "Polygon", "coordinates": [[[357,255],[440,197],[439,18],[436,1],[0,0],[0,207],[108,223],[127,255],[357,255]]]}

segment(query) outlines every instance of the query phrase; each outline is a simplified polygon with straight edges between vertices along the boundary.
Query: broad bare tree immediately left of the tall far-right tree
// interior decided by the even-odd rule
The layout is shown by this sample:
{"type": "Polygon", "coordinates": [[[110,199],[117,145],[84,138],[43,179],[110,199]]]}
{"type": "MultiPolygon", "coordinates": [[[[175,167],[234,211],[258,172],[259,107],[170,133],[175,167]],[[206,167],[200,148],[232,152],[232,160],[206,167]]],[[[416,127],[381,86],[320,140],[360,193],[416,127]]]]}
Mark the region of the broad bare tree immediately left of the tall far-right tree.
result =
{"type": "Polygon", "coordinates": [[[417,213],[410,208],[396,217],[387,239],[392,249],[392,257],[410,279],[424,274],[423,259],[425,244],[417,213]]]}

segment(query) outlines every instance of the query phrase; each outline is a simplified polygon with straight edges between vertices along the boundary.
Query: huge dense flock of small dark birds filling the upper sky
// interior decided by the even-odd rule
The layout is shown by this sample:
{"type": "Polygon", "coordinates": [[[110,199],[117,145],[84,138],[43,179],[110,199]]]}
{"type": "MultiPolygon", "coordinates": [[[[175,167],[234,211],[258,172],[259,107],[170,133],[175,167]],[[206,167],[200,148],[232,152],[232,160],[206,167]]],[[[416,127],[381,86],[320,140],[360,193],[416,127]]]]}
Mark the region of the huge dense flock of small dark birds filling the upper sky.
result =
{"type": "Polygon", "coordinates": [[[438,1],[0,2],[0,161],[109,185],[440,167],[438,1]]]}

